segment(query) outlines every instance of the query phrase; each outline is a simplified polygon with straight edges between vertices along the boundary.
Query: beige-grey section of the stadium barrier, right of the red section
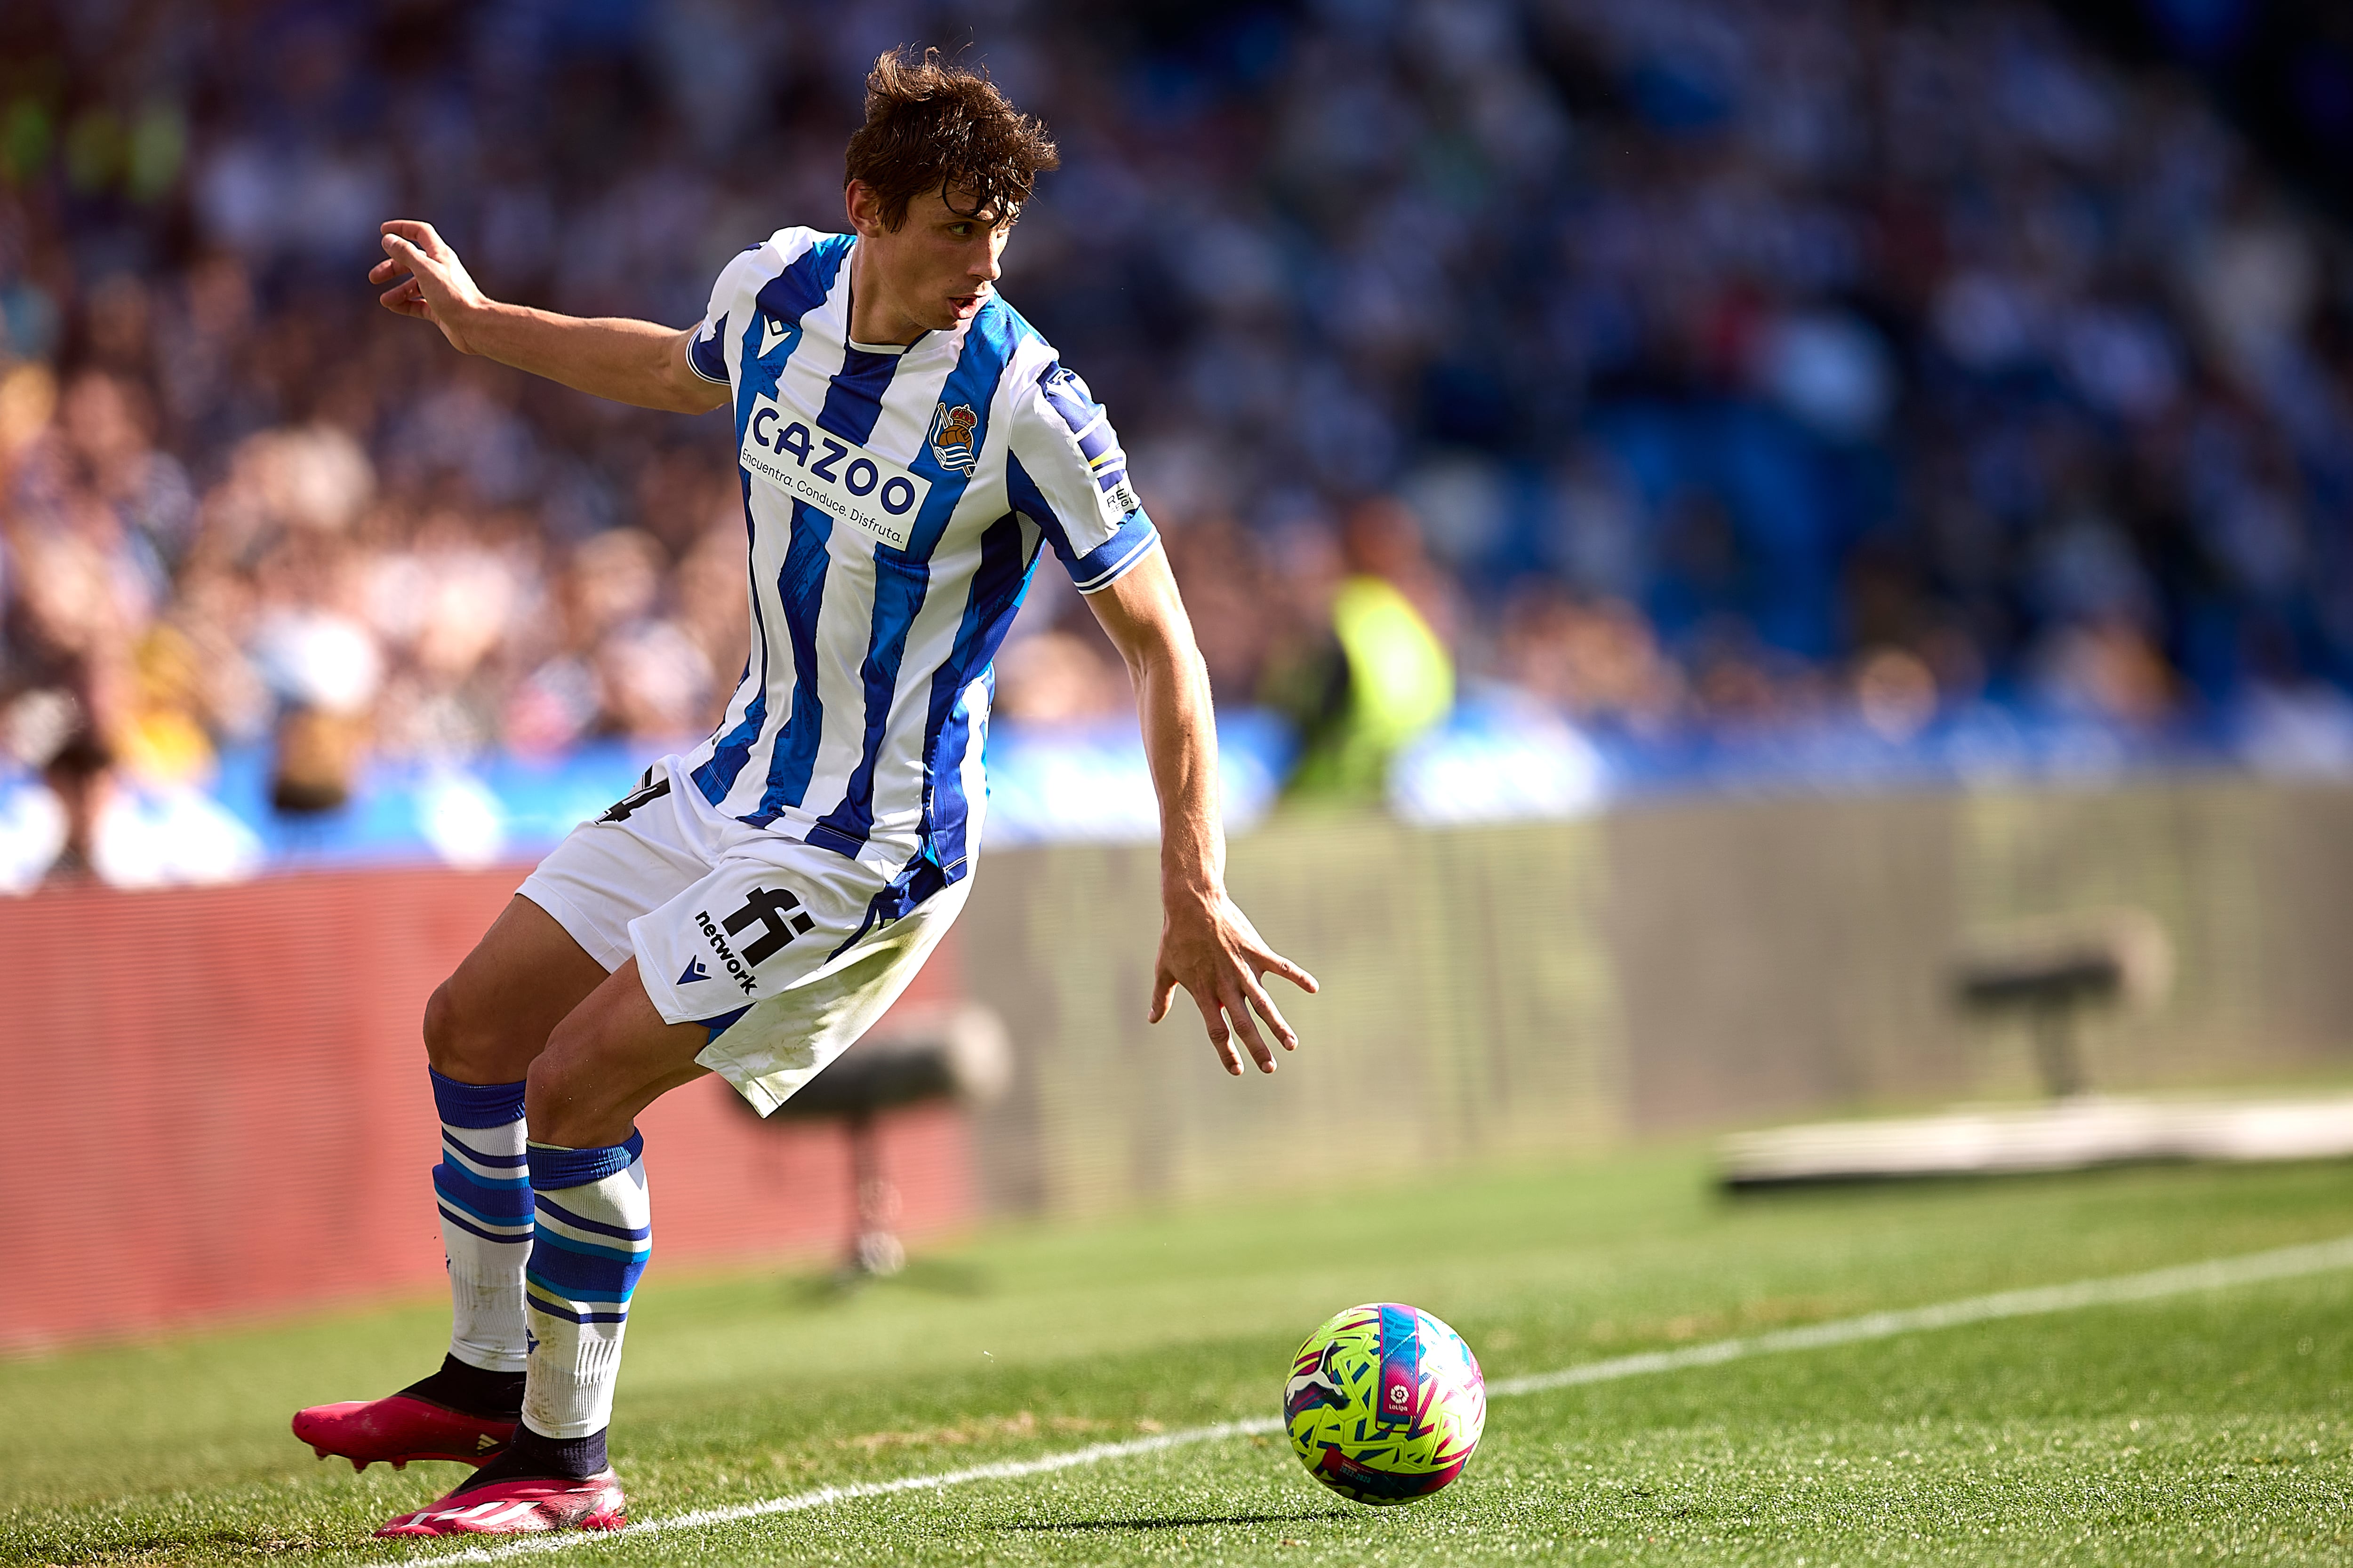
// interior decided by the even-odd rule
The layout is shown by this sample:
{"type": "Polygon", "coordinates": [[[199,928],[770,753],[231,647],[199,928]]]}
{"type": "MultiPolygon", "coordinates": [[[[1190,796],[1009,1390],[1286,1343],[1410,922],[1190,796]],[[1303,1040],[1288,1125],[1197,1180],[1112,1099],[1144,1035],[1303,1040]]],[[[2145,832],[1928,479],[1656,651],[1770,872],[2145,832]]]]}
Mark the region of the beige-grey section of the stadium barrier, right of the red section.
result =
{"type": "Polygon", "coordinates": [[[1228,1079],[1144,1023],[1151,846],[991,856],[972,997],[1019,1041],[976,1117],[981,1201],[1104,1211],[1402,1180],[1647,1133],[2040,1093],[2028,1032],[1969,1020],[1953,959],[2019,919],[2141,910],[2179,964],[2092,1018],[2089,1088],[2353,1065],[2353,790],[2235,778],[2108,790],[1694,799],[1567,823],[1278,818],[1233,844],[1257,926],[1322,980],[1268,990],[1304,1046],[1228,1079]]]}

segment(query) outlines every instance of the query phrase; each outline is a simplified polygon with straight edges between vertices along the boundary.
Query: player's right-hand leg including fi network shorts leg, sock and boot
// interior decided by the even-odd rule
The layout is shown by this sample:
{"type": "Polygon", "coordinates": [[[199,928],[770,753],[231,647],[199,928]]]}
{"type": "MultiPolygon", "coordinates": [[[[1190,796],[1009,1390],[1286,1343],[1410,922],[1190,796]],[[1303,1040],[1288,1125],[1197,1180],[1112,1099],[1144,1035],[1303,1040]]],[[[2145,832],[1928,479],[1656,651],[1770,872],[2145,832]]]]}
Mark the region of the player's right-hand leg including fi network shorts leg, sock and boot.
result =
{"type": "Polygon", "coordinates": [[[652,1251],[638,1112],[706,1065],[762,1114],[774,1110],[906,990],[967,886],[892,910],[896,889],[873,867],[762,839],[628,924],[631,957],[529,1067],[534,1342],[515,1441],[386,1535],[621,1521],[605,1425],[652,1251]]]}

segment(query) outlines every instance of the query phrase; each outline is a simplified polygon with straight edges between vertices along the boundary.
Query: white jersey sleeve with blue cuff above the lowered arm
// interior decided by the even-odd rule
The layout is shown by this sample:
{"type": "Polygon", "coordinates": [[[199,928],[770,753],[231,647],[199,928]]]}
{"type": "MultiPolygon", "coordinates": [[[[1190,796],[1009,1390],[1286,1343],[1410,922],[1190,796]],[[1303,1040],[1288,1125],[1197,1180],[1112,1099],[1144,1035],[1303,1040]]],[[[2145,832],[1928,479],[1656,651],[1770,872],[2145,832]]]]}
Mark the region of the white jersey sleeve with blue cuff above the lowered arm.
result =
{"type": "Polygon", "coordinates": [[[1104,404],[1061,362],[1014,390],[1005,484],[1080,592],[1111,588],[1160,545],[1104,404]]]}

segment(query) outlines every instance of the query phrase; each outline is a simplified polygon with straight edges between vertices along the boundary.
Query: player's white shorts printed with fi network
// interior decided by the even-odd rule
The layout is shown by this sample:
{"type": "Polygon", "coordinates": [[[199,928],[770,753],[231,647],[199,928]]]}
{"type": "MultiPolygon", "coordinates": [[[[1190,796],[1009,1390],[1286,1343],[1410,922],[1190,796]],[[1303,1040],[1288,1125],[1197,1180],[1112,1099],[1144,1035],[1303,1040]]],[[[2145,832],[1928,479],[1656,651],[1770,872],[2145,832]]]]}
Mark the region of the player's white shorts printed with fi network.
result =
{"type": "Polygon", "coordinates": [[[720,816],[664,757],[515,889],[607,971],[638,959],[666,1023],[701,1023],[694,1058],[762,1117],[871,1030],[965,907],[972,879],[896,919],[894,867],[720,816]]]}

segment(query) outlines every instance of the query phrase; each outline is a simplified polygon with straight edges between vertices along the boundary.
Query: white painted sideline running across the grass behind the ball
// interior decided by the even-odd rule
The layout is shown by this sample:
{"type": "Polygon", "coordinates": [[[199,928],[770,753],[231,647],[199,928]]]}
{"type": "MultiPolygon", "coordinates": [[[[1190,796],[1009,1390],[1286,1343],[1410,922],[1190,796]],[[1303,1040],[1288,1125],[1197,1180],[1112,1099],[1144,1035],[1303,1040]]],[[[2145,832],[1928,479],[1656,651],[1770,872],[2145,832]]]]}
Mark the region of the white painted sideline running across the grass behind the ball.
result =
{"type": "MultiPolygon", "coordinates": [[[[2311,1246],[2282,1246],[2271,1253],[2245,1253],[2240,1258],[2212,1258],[2207,1262],[2184,1262],[2169,1269],[2148,1269],[2146,1274],[2115,1274],[2111,1279],[2078,1279],[2075,1284],[2066,1286],[2038,1286],[2033,1291],[2002,1291],[1998,1295],[1972,1295],[1958,1302],[1939,1302],[1934,1307],[1908,1307],[1904,1312],[1866,1312],[1864,1316],[1847,1316],[1831,1324],[1809,1324],[1805,1328],[1777,1328],[1774,1333],[1760,1333],[1744,1340],[1711,1340],[1708,1345],[1689,1345],[1685,1349],[1649,1349],[1633,1356],[1614,1356],[1609,1361],[1586,1361],[1581,1366],[1565,1366],[1553,1373],[1532,1373],[1527,1378],[1504,1378],[1499,1382],[1489,1382],[1487,1399],[1518,1399],[1520,1394],[1544,1394],[1548,1389],[1567,1389],[1586,1382],[1617,1382],[1619,1378],[1680,1373],[1682,1368],[1689,1366],[1720,1366],[1725,1361],[1741,1361],[1746,1356],[1772,1356],[1786,1349],[1821,1349],[1824,1345],[1892,1340],[1904,1333],[1922,1333],[1929,1328],[1958,1328],[1962,1324],[1991,1324],[2012,1316],[2042,1316],[2049,1312],[2075,1312],[2080,1307],[2113,1307],[2122,1302],[2162,1300],[2167,1295],[2193,1295],[2198,1291],[2226,1291],[2231,1286],[2252,1286],[2266,1279],[2299,1279],[2304,1274],[2327,1274],[2332,1269],[2346,1269],[2346,1267],[2353,1267],[2353,1237],[2344,1237],[2339,1241],[2315,1241],[2311,1246]]],[[[449,1552],[433,1556],[419,1554],[419,1556],[384,1559],[372,1568],[395,1568],[407,1563],[496,1563],[511,1556],[525,1556],[534,1552],[569,1552],[572,1547],[593,1547],[635,1535],[659,1535],[664,1530],[701,1530],[706,1526],[741,1523],[746,1519],[762,1519],[767,1514],[802,1514],[807,1509],[821,1509],[833,1502],[856,1502],[859,1497],[887,1497],[892,1493],[965,1486],[967,1481],[1019,1481],[1024,1476],[1045,1476],[1056,1469],[1101,1465],[1104,1460],[1125,1460],[1139,1453],[1160,1453],[1162,1448],[1219,1443],[1228,1436],[1257,1436],[1264,1432],[1280,1432],[1280,1429],[1282,1422],[1273,1418],[1228,1420],[1228,1422],[1217,1422],[1214,1427],[1155,1432],[1153,1436],[1136,1436],[1127,1439],[1125,1443],[1089,1443],[1087,1448],[1071,1448],[1068,1453],[1047,1453],[1035,1460],[998,1460],[995,1465],[944,1469],[929,1476],[899,1476],[896,1481],[819,1486],[814,1493],[767,1497],[765,1502],[739,1502],[734,1507],[722,1507],[722,1509],[696,1509],[694,1514],[673,1514],[671,1519],[647,1519],[645,1523],[633,1523],[626,1530],[614,1530],[609,1535],[600,1530],[525,1535],[518,1540],[501,1542],[496,1547],[473,1547],[468,1552],[449,1552]]]]}

